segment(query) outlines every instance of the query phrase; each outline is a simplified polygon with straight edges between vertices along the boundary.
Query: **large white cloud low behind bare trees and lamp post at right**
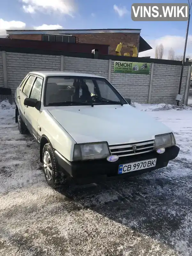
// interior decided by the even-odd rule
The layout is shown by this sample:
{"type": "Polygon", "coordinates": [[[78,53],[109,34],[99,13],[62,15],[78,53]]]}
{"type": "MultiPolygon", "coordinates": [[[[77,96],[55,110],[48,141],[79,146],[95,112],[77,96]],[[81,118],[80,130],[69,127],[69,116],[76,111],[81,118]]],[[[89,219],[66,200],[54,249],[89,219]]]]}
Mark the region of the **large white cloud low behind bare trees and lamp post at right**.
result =
{"type": "MultiPolygon", "coordinates": [[[[150,56],[151,58],[155,58],[155,48],[159,44],[163,44],[164,46],[164,56],[163,56],[164,59],[168,59],[168,52],[171,48],[173,48],[175,55],[183,55],[185,37],[166,35],[166,36],[159,37],[157,39],[149,39],[146,41],[153,49],[139,53],[139,57],[150,56]]],[[[186,54],[190,55],[192,58],[191,43],[192,43],[192,35],[189,35],[186,54]]]]}

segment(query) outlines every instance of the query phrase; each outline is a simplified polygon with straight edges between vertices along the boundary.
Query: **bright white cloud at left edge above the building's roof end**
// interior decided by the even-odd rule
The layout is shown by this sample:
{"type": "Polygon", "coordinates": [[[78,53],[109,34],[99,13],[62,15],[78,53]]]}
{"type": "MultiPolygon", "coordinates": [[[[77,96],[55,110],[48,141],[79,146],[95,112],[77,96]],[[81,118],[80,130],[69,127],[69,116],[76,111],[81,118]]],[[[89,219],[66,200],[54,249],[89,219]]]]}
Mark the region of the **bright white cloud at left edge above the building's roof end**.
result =
{"type": "Polygon", "coordinates": [[[22,21],[6,21],[0,19],[0,35],[6,35],[6,29],[25,29],[26,24],[22,21]]]}

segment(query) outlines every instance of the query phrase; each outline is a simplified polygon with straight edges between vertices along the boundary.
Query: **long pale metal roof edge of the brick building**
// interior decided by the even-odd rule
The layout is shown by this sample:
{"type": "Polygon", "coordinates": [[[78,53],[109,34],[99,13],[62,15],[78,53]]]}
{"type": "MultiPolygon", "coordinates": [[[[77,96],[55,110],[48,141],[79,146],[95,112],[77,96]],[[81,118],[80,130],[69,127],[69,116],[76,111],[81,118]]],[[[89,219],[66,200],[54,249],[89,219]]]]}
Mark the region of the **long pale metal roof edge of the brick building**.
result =
{"type": "Polygon", "coordinates": [[[108,29],[54,29],[54,30],[6,30],[7,35],[19,34],[96,34],[96,33],[140,33],[141,29],[108,28],[108,29]]]}

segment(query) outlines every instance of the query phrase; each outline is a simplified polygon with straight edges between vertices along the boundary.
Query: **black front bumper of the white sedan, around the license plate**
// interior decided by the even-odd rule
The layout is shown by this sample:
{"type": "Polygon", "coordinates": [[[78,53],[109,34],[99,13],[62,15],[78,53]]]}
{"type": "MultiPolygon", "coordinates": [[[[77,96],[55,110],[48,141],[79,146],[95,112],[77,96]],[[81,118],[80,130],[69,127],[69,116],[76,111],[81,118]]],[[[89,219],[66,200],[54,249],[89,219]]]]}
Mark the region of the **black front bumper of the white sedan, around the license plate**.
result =
{"type": "Polygon", "coordinates": [[[120,157],[116,162],[108,162],[106,159],[102,160],[89,160],[89,161],[78,161],[78,162],[69,162],[64,157],[60,157],[55,154],[60,170],[67,172],[73,179],[82,179],[82,178],[96,178],[98,176],[134,176],[145,172],[150,172],[162,167],[167,166],[170,160],[175,159],[179,154],[180,148],[173,146],[166,148],[163,154],[158,154],[156,151],[148,152],[145,154],[135,155],[135,156],[125,156],[120,157]],[[144,161],[152,158],[157,158],[156,166],[124,173],[122,175],[118,174],[118,167],[120,164],[129,164],[137,161],[144,161]]]}

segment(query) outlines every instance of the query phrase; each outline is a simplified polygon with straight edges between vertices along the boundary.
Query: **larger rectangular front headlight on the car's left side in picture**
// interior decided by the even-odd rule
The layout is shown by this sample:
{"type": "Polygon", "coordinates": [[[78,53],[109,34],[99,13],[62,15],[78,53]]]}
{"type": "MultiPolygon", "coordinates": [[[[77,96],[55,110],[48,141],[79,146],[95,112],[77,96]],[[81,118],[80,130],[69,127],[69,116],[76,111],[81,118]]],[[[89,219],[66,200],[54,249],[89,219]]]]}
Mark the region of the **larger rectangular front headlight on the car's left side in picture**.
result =
{"type": "Polygon", "coordinates": [[[109,155],[107,142],[75,144],[73,161],[102,159],[109,155]]]}

